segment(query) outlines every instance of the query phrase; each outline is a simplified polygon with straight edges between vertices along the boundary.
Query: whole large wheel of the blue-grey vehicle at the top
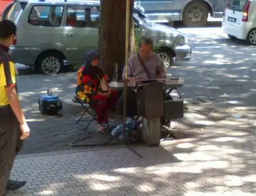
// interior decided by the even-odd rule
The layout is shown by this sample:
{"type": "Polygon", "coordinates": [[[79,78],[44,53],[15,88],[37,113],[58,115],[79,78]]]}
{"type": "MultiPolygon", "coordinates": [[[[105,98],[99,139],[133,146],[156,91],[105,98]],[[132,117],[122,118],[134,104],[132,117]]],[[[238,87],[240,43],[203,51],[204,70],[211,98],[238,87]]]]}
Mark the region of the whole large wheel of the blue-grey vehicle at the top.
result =
{"type": "Polygon", "coordinates": [[[183,23],[187,27],[205,26],[208,19],[208,7],[203,2],[189,3],[183,11],[183,23]]]}

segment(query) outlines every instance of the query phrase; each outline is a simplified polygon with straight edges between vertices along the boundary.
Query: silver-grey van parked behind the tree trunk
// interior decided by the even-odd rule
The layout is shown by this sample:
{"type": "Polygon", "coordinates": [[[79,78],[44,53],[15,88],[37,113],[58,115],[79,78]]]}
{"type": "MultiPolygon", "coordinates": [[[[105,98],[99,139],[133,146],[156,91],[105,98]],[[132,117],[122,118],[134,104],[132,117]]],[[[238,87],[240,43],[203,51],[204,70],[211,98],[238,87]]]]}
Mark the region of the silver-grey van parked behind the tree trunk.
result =
{"type": "MultiPolygon", "coordinates": [[[[85,61],[85,53],[97,49],[100,1],[16,1],[4,17],[17,24],[17,39],[9,50],[16,63],[34,66],[45,74],[85,61]]],[[[176,29],[153,24],[140,11],[134,21],[141,34],[159,45],[169,67],[173,59],[191,58],[188,39],[176,29]]]]}

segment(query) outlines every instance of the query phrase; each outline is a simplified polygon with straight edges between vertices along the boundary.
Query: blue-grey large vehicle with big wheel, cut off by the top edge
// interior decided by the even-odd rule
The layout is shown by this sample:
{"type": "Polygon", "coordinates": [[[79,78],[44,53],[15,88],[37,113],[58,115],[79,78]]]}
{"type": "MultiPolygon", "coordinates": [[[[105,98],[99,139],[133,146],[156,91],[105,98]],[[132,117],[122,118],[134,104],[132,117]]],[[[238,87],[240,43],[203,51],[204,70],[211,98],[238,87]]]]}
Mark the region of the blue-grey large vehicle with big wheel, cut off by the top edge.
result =
{"type": "Polygon", "coordinates": [[[208,16],[221,18],[222,0],[137,0],[154,22],[182,21],[188,27],[204,26],[208,16]]]}

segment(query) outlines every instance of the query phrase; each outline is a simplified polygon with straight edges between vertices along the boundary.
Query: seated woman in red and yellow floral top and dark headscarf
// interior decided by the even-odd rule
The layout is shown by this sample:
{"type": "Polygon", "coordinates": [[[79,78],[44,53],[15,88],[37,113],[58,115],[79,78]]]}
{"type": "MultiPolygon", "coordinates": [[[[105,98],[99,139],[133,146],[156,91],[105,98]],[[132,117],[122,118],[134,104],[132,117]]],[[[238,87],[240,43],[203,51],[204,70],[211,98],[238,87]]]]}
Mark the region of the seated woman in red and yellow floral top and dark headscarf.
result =
{"type": "Polygon", "coordinates": [[[109,110],[116,109],[118,92],[109,87],[109,78],[99,67],[99,54],[88,52],[87,61],[77,73],[77,97],[93,106],[97,113],[98,131],[108,124],[109,110]]]}

